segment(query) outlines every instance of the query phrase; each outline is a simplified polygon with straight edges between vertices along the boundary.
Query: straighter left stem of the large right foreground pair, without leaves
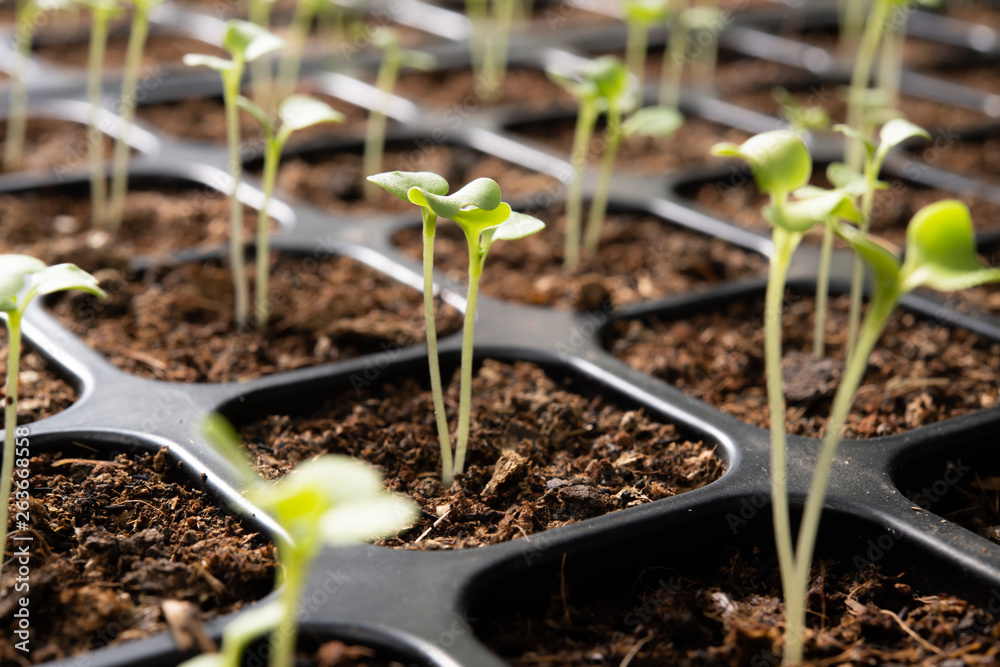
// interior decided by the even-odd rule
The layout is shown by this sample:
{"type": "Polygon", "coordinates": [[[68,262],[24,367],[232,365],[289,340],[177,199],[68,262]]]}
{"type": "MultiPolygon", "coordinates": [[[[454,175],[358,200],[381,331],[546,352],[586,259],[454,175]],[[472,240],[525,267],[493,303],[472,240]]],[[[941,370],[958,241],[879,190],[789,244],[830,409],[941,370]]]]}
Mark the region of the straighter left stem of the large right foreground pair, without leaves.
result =
{"type": "Polygon", "coordinates": [[[767,369],[767,398],[771,415],[772,521],[781,581],[786,591],[785,604],[794,606],[795,598],[789,591],[795,556],[792,551],[792,524],[788,510],[785,395],[781,372],[781,315],[788,267],[802,235],[776,227],[772,238],[774,254],[771,257],[767,292],[764,296],[764,363],[767,369]]]}

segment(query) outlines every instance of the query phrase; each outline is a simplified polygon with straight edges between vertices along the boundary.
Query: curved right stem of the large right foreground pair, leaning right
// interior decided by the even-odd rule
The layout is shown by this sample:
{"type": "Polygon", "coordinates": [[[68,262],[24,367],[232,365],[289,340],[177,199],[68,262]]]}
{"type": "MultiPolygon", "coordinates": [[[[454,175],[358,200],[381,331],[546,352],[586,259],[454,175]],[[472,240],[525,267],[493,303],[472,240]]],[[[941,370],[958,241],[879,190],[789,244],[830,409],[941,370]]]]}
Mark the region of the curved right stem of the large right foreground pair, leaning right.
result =
{"type": "MultiPolygon", "coordinates": [[[[864,377],[865,369],[868,366],[868,357],[871,356],[875,344],[885,323],[896,307],[898,295],[877,296],[872,300],[868,316],[865,318],[864,328],[858,339],[858,347],[854,356],[848,363],[844,377],[837,387],[837,393],[833,398],[833,407],[830,410],[830,418],[827,420],[826,433],[823,436],[823,446],[820,449],[819,458],[816,461],[812,482],[809,485],[809,495],[806,496],[805,509],[803,510],[802,523],[799,527],[799,536],[795,545],[795,577],[793,589],[786,592],[786,600],[793,598],[801,600],[801,607],[797,607],[795,613],[797,618],[792,618],[792,610],[786,611],[788,615],[788,639],[785,644],[784,664],[797,664],[802,661],[802,647],[798,646],[798,653],[789,654],[790,642],[794,639],[791,628],[805,628],[805,599],[809,590],[809,566],[812,564],[813,551],[816,546],[816,535],[819,532],[820,518],[823,513],[823,503],[826,501],[827,486],[830,482],[830,471],[833,468],[833,457],[837,452],[837,445],[840,441],[840,430],[854,402],[854,394],[857,392],[864,377]],[[895,298],[893,298],[895,297],[895,298]]],[[[795,648],[792,646],[792,648],[795,648]]]]}

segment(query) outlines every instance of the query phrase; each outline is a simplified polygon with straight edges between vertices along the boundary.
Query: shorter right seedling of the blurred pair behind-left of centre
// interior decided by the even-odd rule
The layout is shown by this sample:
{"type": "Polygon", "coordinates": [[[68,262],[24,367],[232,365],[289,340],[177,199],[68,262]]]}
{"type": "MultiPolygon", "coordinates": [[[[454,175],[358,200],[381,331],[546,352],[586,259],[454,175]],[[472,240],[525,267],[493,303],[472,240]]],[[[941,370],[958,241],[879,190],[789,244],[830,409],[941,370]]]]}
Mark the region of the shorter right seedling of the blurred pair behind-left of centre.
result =
{"type": "Polygon", "coordinates": [[[264,205],[261,207],[260,213],[257,214],[257,291],[254,301],[254,315],[257,326],[266,328],[270,315],[268,307],[270,217],[267,208],[274,195],[274,183],[278,177],[281,151],[284,150],[285,143],[288,142],[288,138],[292,136],[293,132],[320,123],[342,123],[344,122],[344,114],[309,95],[292,95],[285,98],[281,106],[278,107],[279,123],[275,123],[263,109],[247,98],[241,96],[237,99],[237,103],[240,108],[256,118],[264,129],[264,175],[262,179],[264,205]]]}

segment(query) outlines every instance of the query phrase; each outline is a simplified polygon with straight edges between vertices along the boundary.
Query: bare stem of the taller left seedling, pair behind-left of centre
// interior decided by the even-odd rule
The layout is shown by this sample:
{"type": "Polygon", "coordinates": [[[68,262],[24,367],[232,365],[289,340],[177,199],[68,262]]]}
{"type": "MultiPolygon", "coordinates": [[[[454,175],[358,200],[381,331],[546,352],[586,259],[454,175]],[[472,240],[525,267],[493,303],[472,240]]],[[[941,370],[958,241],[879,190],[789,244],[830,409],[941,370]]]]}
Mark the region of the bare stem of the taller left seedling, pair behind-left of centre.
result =
{"type": "Polygon", "coordinates": [[[240,122],[236,98],[240,94],[243,62],[235,70],[222,73],[223,98],[226,105],[226,140],[229,147],[229,175],[233,189],[229,195],[229,270],[233,273],[233,292],[236,305],[236,326],[245,328],[250,314],[250,290],[247,286],[246,258],[243,256],[243,204],[236,197],[243,178],[240,160],[240,122]]]}

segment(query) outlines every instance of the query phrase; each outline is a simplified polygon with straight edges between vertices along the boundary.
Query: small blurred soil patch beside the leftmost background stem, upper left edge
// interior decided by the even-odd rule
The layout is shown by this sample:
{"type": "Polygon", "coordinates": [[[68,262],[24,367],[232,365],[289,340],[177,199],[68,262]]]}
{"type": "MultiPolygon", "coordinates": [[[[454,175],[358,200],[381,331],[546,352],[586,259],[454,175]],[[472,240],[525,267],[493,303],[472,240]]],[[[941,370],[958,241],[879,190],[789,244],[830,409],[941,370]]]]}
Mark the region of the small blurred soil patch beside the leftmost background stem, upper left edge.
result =
{"type": "MultiPolygon", "coordinates": [[[[7,136],[7,122],[0,122],[0,136],[7,136]]],[[[102,135],[103,136],[103,135],[102,135]]],[[[104,138],[104,155],[111,157],[113,142],[104,138]]],[[[24,159],[19,171],[56,173],[89,164],[87,126],[66,120],[29,118],[24,143],[24,159]]]]}

